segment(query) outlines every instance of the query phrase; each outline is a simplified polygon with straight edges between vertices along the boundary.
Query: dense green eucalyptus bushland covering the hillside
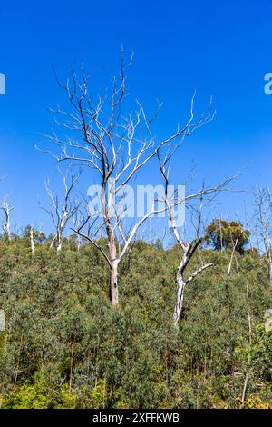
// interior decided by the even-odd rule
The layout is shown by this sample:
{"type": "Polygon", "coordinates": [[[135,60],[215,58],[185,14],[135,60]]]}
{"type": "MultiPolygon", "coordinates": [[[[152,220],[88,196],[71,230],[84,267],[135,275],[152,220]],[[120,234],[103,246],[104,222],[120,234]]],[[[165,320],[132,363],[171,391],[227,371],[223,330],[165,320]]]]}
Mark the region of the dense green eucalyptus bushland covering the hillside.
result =
{"type": "MultiPolygon", "coordinates": [[[[215,263],[185,292],[173,326],[177,247],[136,242],[109,302],[100,253],[73,240],[56,255],[26,237],[0,242],[2,408],[272,407],[272,308],[265,260],[201,249],[215,263]],[[245,388],[246,395],[242,402],[245,388]]],[[[195,263],[195,265],[194,265],[195,263]]]]}

